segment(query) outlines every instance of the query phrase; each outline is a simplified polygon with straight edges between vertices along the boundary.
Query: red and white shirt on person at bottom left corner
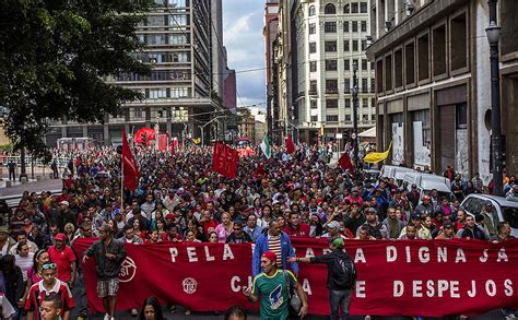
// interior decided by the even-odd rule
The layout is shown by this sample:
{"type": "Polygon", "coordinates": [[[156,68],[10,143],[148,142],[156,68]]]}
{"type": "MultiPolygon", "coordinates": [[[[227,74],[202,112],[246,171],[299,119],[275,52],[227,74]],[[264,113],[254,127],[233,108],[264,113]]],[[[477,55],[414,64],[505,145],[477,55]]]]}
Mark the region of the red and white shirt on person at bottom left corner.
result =
{"type": "Polygon", "coordinates": [[[70,292],[69,286],[64,283],[56,280],[56,284],[50,291],[46,291],[44,287],[44,282],[33,284],[31,291],[28,292],[28,297],[25,300],[25,310],[34,311],[34,320],[40,320],[39,307],[45,298],[45,295],[59,294],[61,297],[61,318],[64,316],[64,312],[71,310],[75,307],[75,303],[72,298],[72,293],[70,292]]]}

